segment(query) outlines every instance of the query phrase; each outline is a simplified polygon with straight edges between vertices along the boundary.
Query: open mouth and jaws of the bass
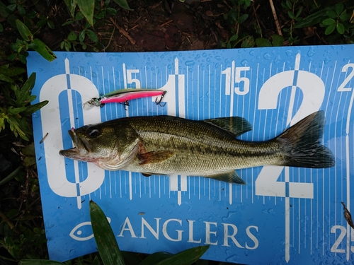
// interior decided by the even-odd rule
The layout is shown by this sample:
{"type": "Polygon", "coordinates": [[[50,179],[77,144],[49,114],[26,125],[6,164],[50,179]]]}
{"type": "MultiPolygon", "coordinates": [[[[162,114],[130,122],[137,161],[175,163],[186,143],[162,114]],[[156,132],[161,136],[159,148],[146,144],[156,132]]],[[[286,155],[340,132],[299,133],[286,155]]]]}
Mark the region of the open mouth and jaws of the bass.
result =
{"type": "Polygon", "coordinates": [[[60,150],[59,155],[75,160],[89,161],[88,155],[91,151],[89,148],[89,143],[85,139],[81,139],[79,136],[77,136],[74,128],[70,129],[68,133],[69,136],[72,138],[74,147],[65,150],[60,150]]]}

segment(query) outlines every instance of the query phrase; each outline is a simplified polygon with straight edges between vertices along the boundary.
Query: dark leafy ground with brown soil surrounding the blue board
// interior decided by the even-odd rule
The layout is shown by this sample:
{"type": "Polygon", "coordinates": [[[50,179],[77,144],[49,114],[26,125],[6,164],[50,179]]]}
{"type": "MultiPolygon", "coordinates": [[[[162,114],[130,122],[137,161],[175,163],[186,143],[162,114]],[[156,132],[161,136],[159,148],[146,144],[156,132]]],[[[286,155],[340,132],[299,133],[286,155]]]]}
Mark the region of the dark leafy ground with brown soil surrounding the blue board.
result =
{"type": "MultiPolygon", "coordinates": [[[[119,0],[96,0],[90,23],[73,2],[0,0],[0,264],[47,258],[30,129],[30,114],[46,103],[30,107],[27,50],[145,52],[354,42],[352,0],[139,0],[127,1],[125,8],[119,0]]],[[[94,262],[91,254],[67,264],[94,262]]]]}

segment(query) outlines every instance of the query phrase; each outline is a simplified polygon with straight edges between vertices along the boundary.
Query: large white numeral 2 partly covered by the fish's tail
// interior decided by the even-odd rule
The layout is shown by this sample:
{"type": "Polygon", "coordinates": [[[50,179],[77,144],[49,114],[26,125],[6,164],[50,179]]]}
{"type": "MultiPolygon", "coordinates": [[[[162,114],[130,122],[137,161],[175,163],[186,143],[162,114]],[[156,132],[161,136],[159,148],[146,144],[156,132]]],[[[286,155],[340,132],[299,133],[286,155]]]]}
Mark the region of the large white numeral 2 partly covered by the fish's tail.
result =
{"type": "MultiPolygon", "coordinates": [[[[294,76],[295,71],[284,71],[275,74],[265,81],[259,92],[258,109],[276,109],[278,107],[280,92],[284,88],[292,86],[294,76]]],[[[325,93],[324,82],[321,78],[307,71],[297,71],[296,86],[292,87],[292,89],[300,88],[302,90],[303,100],[294,117],[290,119],[290,126],[296,124],[304,117],[307,117],[307,115],[319,110],[324,100],[325,93]]],[[[289,104],[289,109],[292,110],[294,98],[290,100],[289,104]]],[[[291,118],[292,111],[289,111],[287,115],[291,118]]],[[[312,199],[314,196],[313,184],[290,182],[287,177],[289,176],[288,168],[286,169],[287,171],[285,171],[285,182],[288,184],[278,182],[278,178],[283,169],[284,167],[263,167],[256,179],[256,195],[290,196],[292,198],[312,199]]]]}

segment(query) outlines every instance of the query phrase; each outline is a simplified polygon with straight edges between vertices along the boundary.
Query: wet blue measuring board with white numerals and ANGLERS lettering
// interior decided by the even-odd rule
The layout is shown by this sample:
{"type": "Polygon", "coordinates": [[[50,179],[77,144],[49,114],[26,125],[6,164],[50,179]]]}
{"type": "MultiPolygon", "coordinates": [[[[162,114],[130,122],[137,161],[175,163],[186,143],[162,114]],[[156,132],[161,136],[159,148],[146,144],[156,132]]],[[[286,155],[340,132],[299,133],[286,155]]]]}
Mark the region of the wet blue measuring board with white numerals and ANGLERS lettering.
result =
{"type": "Polygon", "coordinates": [[[351,264],[354,232],[343,217],[354,192],[354,45],[270,47],[191,52],[56,52],[51,63],[30,52],[37,73],[35,150],[50,259],[96,251],[89,217],[95,201],[120,249],[177,253],[210,245],[202,259],[240,264],[351,264]],[[122,88],[166,90],[131,100],[82,105],[122,88]],[[184,175],[144,177],[69,160],[67,131],[118,117],[169,114],[188,119],[240,116],[253,130],[239,139],[265,141],[324,110],[322,143],[336,157],[327,169],[264,166],[236,172],[246,185],[184,175]],[[45,140],[40,143],[43,136],[45,140]]]}

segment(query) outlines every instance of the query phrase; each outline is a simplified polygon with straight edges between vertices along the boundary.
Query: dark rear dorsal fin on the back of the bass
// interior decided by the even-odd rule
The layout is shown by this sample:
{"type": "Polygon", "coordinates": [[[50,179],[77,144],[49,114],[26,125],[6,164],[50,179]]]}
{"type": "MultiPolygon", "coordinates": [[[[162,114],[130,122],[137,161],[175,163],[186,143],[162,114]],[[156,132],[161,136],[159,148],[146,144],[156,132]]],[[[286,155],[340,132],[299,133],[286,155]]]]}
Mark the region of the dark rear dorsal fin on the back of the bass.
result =
{"type": "Polygon", "coordinates": [[[224,117],[205,119],[204,122],[213,124],[226,131],[232,132],[236,137],[252,130],[252,125],[242,117],[224,117]]]}

